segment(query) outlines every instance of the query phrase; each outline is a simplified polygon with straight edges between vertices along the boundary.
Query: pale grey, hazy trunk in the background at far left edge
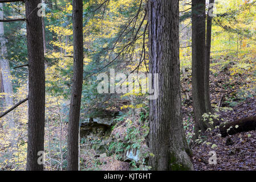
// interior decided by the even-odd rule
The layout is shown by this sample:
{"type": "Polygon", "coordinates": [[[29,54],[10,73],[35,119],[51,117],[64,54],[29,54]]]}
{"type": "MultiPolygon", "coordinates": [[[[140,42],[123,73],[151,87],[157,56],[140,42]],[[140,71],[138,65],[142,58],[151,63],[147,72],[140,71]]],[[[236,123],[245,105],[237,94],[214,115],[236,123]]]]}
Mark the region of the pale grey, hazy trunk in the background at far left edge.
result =
{"type": "MultiPolygon", "coordinates": [[[[0,3],[0,19],[3,19],[3,4],[0,3]]],[[[13,106],[13,85],[11,84],[11,71],[9,61],[5,58],[7,53],[5,31],[3,29],[3,22],[0,22],[0,67],[3,81],[3,91],[5,93],[5,107],[8,109],[13,106]]],[[[13,118],[13,113],[9,113],[6,116],[9,123],[10,130],[14,129],[15,123],[13,118]]],[[[11,144],[14,144],[15,131],[11,131],[13,139],[11,139],[11,144]]]]}

